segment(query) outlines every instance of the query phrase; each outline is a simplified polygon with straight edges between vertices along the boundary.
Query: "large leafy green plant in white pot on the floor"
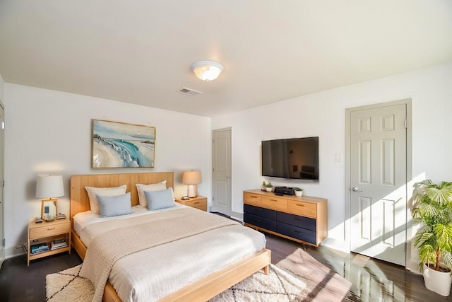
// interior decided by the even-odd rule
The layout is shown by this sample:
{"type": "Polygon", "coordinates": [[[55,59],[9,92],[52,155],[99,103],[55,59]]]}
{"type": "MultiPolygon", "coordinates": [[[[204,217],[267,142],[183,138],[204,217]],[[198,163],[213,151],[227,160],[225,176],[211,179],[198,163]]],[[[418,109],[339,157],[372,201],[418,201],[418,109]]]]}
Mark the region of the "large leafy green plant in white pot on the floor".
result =
{"type": "Polygon", "coordinates": [[[417,182],[413,223],[422,223],[414,238],[427,289],[448,296],[452,282],[452,182],[417,182]]]}

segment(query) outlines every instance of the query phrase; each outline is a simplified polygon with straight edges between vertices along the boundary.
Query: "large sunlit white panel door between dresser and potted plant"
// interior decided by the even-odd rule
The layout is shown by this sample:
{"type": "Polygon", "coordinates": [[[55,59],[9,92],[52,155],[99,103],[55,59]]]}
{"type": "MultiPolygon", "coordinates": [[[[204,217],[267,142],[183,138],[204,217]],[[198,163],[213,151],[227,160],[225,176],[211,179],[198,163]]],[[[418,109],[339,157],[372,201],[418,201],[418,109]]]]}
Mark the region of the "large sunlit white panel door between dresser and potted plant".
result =
{"type": "Polygon", "coordinates": [[[350,112],[350,245],[405,266],[406,105],[350,112]]]}

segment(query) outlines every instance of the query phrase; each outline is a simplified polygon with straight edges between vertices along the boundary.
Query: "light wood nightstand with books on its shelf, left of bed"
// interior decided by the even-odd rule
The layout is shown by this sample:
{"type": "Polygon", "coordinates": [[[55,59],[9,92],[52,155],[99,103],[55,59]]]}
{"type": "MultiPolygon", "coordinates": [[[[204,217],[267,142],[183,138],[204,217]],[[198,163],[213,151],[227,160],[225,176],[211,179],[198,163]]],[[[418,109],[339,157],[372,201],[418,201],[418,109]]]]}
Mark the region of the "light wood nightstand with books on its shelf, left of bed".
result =
{"type": "Polygon", "coordinates": [[[43,221],[42,223],[35,223],[34,220],[30,221],[28,223],[27,266],[30,265],[30,260],[58,254],[59,252],[69,252],[71,254],[71,221],[67,218],[55,219],[50,222],[43,221]],[[67,246],[58,248],[59,245],[54,245],[52,250],[52,241],[59,239],[64,239],[67,246]],[[39,244],[47,244],[48,250],[32,254],[32,245],[39,244]]]}

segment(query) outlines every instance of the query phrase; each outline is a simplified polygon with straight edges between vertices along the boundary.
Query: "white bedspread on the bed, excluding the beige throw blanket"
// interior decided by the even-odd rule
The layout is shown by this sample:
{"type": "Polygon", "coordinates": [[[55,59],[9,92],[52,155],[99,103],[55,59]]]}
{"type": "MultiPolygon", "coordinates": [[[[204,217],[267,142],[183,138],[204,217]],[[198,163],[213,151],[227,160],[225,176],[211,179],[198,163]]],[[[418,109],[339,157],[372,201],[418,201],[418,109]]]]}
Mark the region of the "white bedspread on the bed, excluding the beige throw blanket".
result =
{"type": "MultiPolygon", "coordinates": [[[[148,214],[136,212],[130,216],[148,214]]],[[[127,226],[131,220],[117,219],[127,226]]],[[[83,236],[90,223],[79,235],[92,240],[90,232],[83,236]]],[[[225,226],[123,257],[113,265],[109,281],[122,301],[157,301],[264,247],[263,234],[239,224],[225,226]]]]}

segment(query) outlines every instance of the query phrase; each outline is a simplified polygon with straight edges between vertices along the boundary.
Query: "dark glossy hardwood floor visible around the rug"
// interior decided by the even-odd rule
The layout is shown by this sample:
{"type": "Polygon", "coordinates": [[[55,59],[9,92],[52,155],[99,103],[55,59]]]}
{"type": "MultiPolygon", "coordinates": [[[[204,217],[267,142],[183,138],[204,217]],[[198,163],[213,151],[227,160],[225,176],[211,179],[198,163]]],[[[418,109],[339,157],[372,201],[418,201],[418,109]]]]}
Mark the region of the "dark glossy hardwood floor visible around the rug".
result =
{"type": "MultiPolygon", "coordinates": [[[[452,301],[425,289],[422,276],[404,267],[319,246],[304,247],[278,236],[266,235],[272,262],[278,263],[297,248],[305,248],[319,262],[352,281],[344,301],[452,301]]],[[[34,260],[25,255],[5,260],[0,269],[0,301],[45,301],[45,276],[81,263],[75,250],[34,260]]]]}

